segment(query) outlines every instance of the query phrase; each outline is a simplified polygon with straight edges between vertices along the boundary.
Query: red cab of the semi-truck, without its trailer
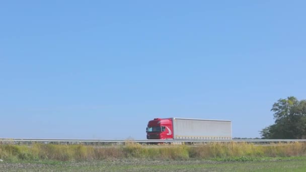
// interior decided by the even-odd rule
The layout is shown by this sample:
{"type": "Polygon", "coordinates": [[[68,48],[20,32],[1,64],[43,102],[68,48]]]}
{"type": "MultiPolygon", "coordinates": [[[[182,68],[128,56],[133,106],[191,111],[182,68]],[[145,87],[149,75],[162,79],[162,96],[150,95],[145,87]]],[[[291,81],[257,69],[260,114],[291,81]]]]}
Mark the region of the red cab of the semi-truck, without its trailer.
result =
{"type": "Polygon", "coordinates": [[[173,139],[173,125],[171,118],[155,118],[146,127],[147,139],[173,139]]]}

